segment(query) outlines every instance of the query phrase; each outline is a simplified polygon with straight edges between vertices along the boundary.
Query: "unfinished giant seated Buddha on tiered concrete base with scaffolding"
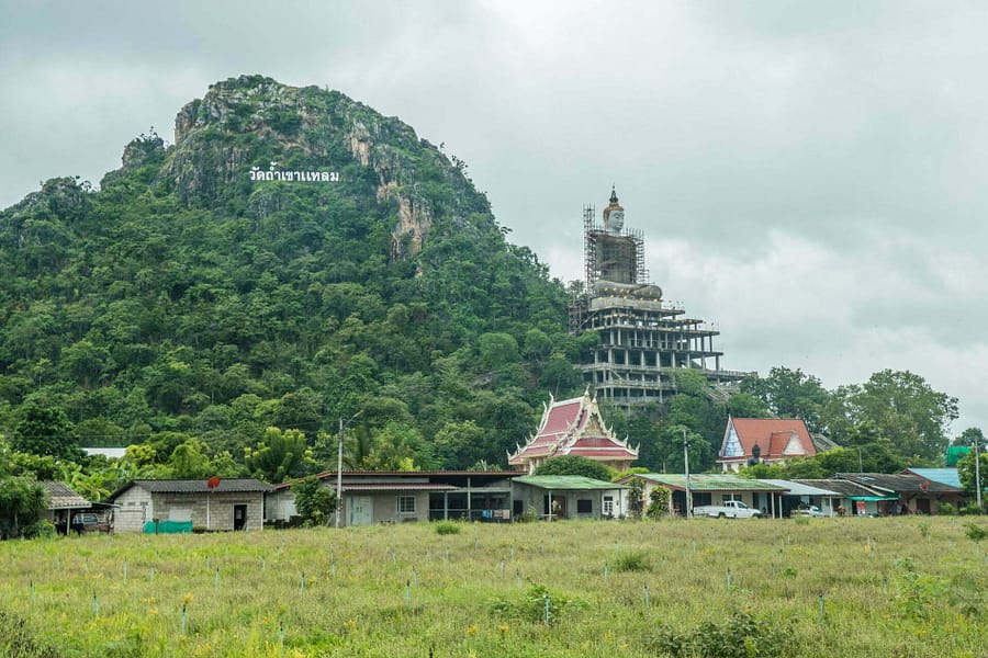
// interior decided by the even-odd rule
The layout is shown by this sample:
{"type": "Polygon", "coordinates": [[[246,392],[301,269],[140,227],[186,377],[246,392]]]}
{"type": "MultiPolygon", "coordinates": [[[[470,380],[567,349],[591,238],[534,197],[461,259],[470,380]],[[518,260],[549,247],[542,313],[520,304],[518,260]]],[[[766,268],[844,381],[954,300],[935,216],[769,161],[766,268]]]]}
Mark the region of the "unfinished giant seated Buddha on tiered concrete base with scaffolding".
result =
{"type": "Polygon", "coordinates": [[[677,368],[699,372],[711,397],[726,397],[754,373],[727,371],[714,347],[720,332],[686,316],[680,305],[662,299],[662,288],[649,283],[644,239],[625,227],[625,208],[611,190],[603,224],[593,206],[584,223],[585,281],[569,302],[570,331],[596,331],[597,347],[581,364],[584,381],[596,397],[624,406],[662,402],[677,390],[677,368]]]}

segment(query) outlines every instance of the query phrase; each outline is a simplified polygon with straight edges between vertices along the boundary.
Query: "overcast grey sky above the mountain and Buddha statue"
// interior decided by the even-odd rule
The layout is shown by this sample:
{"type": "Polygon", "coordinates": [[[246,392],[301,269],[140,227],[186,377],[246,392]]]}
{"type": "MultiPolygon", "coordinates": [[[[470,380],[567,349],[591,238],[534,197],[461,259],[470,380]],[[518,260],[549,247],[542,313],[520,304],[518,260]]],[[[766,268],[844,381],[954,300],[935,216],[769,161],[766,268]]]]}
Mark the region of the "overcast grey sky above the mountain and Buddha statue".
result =
{"type": "Polygon", "coordinates": [[[988,3],[0,0],[0,207],[97,183],[217,80],[338,89],[582,276],[615,184],[722,365],[908,370],[988,431],[988,3]]]}

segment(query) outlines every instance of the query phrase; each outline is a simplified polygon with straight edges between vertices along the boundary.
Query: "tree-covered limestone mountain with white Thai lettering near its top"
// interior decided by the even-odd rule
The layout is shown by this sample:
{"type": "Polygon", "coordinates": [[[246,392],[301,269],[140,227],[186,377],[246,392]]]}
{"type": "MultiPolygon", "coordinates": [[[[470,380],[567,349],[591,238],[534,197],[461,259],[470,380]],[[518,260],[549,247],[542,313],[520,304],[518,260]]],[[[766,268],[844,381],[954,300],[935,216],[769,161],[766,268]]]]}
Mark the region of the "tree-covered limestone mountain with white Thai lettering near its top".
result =
{"type": "Polygon", "coordinates": [[[0,431],[40,405],[67,442],[239,460],[362,409],[356,465],[503,462],[547,388],[579,387],[581,345],[464,170],[340,92],[212,86],[98,191],[53,179],[0,212],[0,431]]]}

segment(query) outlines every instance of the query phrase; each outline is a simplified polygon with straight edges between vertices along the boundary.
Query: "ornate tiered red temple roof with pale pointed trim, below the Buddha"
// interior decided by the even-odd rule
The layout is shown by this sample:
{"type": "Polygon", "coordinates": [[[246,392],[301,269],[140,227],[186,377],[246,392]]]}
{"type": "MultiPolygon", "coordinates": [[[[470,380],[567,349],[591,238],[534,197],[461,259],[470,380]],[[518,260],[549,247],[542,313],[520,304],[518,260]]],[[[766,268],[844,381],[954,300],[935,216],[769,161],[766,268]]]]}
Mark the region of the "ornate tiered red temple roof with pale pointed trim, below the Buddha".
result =
{"type": "Polygon", "coordinates": [[[535,473],[549,457],[579,455],[625,470],[638,458],[638,447],[615,436],[600,417],[597,399],[586,390],[583,397],[555,400],[549,396],[538,431],[524,446],[508,454],[508,464],[535,473]]]}

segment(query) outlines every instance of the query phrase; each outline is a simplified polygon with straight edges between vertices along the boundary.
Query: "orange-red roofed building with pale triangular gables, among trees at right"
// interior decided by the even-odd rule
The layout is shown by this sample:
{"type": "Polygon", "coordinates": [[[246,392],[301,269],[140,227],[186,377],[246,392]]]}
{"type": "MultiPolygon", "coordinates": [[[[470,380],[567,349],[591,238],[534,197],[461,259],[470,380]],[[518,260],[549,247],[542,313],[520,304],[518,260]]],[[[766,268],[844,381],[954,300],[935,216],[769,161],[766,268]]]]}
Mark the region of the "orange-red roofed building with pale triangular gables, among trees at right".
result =
{"type": "Polygon", "coordinates": [[[717,463],[727,473],[750,464],[778,464],[816,454],[801,418],[728,418],[717,463]]]}

